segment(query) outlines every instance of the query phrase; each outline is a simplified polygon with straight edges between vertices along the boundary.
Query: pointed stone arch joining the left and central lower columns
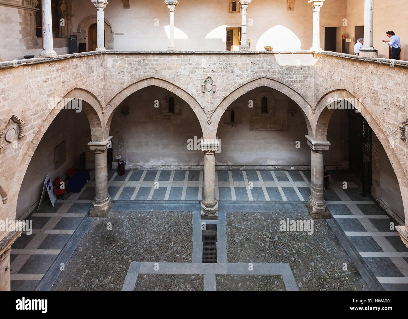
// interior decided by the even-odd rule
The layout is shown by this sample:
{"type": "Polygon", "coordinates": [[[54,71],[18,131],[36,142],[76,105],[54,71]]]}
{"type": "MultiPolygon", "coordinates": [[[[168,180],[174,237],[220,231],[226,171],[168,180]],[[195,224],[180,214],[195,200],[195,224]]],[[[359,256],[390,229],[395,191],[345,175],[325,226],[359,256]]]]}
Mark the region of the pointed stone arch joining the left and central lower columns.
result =
{"type": "Polygon", "coordinates": [[[197,116],[198,121],[200,121],[200,125],[204,134],[204,130],[206,126],[208,126],[207,116],[200,106],[200,104],[186,91],[171,84],[170,82],[158,78],[149,78],[138,81],[136,83],[131,84],[127,88],[124,88],[121,92],[119,92],[109,103],[107,103],[108,110],[109,110],[109,117],[106,120],[105,124],[105,132],[109,132],[111,121],[113,118],[113,114],[115,113],[116,109],[118,108],[119,104],[126,99],[129,95],[133,94],[134,92],[141,90],[142,88],[146,88],[148,86],[158,86],[160,88],[164,88],[169,90],[173,94],[183,99],[194,111],[195,115],[197,116]]]}

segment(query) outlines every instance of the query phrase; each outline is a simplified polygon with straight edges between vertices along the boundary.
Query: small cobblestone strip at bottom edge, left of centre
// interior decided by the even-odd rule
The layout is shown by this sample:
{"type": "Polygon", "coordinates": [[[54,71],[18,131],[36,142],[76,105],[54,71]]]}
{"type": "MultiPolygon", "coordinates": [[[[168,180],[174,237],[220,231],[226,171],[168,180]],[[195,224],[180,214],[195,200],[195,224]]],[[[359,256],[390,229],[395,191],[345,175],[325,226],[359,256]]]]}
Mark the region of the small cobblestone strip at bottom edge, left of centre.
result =
{"type": "Polygon", "coordinates": [[[134,291],[204,291],[204,275],[139,274],[134,291]]]}

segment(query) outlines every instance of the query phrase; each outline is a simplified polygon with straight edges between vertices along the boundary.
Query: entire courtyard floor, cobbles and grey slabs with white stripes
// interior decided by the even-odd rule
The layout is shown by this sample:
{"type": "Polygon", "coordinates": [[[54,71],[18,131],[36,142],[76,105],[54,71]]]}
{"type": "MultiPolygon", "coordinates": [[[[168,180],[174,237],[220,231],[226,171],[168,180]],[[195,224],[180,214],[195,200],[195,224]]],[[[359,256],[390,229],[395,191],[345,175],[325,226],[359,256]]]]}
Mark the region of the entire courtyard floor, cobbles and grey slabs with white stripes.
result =
{"type": "Polygon", "coordinates": [[[33,235],[12,246],[12,290],[408,291],[408,250],[390,229],[399,223],[353,176],[332,172],[332,218],[313,220],[313,234],[279,230],[311,221],[310,171],[217,171],[211,221],[200,219],[202,171],[111,170],[107,218],[87,215],[93,176],[31,215],[33,235]],[[217,225],[217,263],[202,263],[202,222],[217,225]]]}

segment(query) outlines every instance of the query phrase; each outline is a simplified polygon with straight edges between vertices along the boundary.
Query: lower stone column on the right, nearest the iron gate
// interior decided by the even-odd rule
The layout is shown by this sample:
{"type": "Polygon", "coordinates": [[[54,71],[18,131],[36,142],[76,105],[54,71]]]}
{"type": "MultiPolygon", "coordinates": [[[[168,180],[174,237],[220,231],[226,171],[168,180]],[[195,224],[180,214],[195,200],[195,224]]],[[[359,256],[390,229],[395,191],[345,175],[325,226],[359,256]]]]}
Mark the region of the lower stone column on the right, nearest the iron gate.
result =
{"type": "Polygon", "coordinates": [[[313,218],[330,218],[327,204],[323,198],[323,153],[329,149],[329,141],[314,141],[306,135],[311,149],[310,197],[306,207],[313,218]]]}

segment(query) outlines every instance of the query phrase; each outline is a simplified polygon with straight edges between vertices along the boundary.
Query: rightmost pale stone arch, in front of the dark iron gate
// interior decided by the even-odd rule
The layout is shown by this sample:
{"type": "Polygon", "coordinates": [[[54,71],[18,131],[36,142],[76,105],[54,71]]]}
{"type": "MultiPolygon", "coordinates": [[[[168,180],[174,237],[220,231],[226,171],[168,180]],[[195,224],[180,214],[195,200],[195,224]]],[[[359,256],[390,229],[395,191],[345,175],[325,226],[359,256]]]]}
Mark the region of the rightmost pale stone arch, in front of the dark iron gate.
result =
{"type": "MultiPolygon", "coordinates": [[[[327,101],[338,101],[338,100],[355,100],[355,96],[348,92],[348,90],[340,89],[333,90],[326,93],[319,99],[319,103],[315,108],[315,123],[313,123],[312,138],[316,141],[327,141],[327,129],[331,119],[334,109],[327,108],[327,101]]],[[[364,105],[360,102],[358,106],[359,113],[367,121],[370,128],[373,130],[374,134],[377,136],[379,142],[384,148],[386,155],[391,163],[392,169],[394,170],[395,176],[399,183],[402,202],[405,211],[406,224],[408,221],[408,178],[406,172],[404,171],[401,161],[399,160],[398,154],[396,152],[397,147],[391,147],[391,143],[387,138],[384,131],[381,129],[380,125],[373,118],[373,116],[368,112],[364,105]]]]}

